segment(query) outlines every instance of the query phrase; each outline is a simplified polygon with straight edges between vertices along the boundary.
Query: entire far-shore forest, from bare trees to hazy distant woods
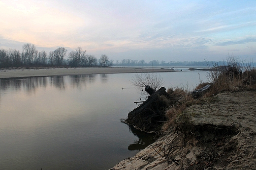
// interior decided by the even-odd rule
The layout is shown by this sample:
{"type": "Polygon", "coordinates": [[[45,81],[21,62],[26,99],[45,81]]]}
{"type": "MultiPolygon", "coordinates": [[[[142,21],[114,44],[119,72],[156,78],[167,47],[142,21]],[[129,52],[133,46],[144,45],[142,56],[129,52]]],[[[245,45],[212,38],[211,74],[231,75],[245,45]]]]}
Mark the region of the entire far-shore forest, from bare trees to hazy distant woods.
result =
{"type": "MultiPolygon", "coordinates": [[[[242,61],[243,62],[243,61],[242,61]]],[[[86,54],[86,50],[81,47],[67,52],[65,48],[58,48],[47,53],[38,51],[33,44],[24,44],[22,52],[16,49],[0,49],[0,68],[18,68],[18,67],[110,67],[110,66],[197,66],[212,67],[224,66],[225,61],[159,61],[152,60],[110,60],[105,54],[99,59],[94,55],[86,54]]],[[[256,63],[250,63],[251,66],[256,63]]]]}

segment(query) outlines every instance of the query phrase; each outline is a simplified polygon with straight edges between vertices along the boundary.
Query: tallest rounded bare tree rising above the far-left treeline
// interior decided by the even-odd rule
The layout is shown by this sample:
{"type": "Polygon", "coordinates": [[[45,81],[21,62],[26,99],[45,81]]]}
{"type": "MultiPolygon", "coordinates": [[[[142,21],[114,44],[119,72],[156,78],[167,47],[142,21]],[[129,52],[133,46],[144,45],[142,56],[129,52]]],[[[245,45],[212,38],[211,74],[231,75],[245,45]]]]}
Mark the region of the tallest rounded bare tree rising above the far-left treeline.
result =
{"type": "Polygon", "coordinates": [[[22,52],[22,59],[24,64],[32,64],[34,55],[36,54],[36,49],[33,44],[24,44],[23,47],[23,52],[22,52]]]}

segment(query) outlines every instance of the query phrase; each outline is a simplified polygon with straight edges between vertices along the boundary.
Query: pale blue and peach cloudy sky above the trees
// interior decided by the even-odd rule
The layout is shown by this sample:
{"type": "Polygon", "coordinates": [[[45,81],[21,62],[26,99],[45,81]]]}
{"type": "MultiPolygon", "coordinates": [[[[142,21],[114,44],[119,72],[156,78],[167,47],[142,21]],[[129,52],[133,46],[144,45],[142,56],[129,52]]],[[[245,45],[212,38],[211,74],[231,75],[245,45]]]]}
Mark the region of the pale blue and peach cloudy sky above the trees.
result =
{"type": "Polygon", "coordinates": [[[121,61],[256,61],[256,0],[0,0],[0,49],[121,61]]]}

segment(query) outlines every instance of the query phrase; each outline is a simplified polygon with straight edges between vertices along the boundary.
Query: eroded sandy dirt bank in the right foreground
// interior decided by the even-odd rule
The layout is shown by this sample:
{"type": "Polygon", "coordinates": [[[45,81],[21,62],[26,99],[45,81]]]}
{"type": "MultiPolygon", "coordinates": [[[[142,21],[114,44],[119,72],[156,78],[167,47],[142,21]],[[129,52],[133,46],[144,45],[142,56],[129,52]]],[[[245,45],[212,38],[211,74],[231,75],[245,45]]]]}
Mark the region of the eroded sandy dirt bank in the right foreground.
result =
{"type": "Polygon", "coordinates": [[[255,170],[256,92],[224,92],[190,106],[179,129],[110,170],[255,170]]]}

